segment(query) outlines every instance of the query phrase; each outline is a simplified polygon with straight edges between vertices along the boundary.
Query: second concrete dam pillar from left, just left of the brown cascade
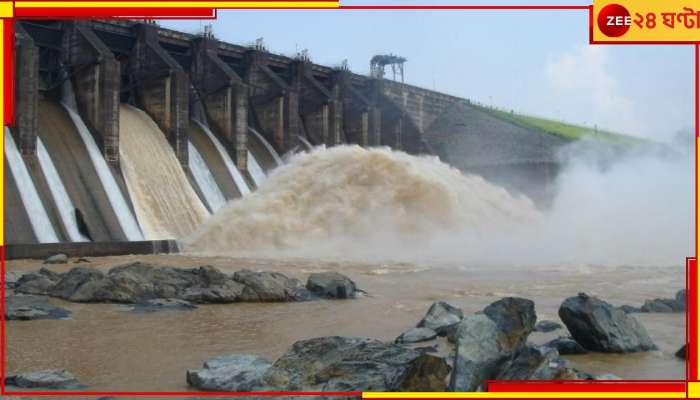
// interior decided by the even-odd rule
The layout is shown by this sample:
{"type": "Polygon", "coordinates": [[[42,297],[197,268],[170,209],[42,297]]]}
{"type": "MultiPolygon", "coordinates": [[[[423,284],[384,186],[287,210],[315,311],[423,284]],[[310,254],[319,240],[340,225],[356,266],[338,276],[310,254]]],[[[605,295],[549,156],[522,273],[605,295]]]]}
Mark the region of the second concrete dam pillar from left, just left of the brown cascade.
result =
{"type": "Polygon", "coordinates": [[[119,61],[88,27],[87,21],[70,24],[64,33],[63,54],[78,110],[107,162],[118,164],[119,61]]]}

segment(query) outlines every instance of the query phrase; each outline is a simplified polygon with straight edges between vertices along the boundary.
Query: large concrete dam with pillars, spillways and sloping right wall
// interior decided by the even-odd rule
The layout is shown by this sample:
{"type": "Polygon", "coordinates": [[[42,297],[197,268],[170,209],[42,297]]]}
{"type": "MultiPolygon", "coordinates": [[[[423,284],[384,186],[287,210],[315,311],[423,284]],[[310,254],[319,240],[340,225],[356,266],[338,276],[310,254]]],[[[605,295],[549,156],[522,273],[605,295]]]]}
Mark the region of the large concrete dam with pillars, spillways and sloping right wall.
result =
{"type": "Polygon", "coordinates": [[[567,143],[467,99],[210,32],[126,20],[23,20],[15,32],[10,258],[57,243],[173,250],[144,241],[192,234],[316,146],[437,156],[546,204],[567,143]]]}

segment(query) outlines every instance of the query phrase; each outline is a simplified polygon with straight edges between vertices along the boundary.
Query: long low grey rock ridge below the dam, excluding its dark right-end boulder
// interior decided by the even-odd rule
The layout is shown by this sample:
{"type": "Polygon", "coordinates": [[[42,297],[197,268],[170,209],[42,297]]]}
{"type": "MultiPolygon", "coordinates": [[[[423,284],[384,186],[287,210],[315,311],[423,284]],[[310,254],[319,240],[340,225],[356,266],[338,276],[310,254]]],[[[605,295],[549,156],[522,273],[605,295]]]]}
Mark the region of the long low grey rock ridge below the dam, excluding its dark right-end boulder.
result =
{"type": "Polygon", "coordinates": [[[180,299],[204,304],[314,298],[299,280],[279,273],[244,270],[228,276],[211,266],[185,269],[141,262],[114,267],[106,274],[89,267],[75,267],[64,274],[42,269],[22,277],[17,290],[86,303],[144,304],[154,299],[180,299]]]}

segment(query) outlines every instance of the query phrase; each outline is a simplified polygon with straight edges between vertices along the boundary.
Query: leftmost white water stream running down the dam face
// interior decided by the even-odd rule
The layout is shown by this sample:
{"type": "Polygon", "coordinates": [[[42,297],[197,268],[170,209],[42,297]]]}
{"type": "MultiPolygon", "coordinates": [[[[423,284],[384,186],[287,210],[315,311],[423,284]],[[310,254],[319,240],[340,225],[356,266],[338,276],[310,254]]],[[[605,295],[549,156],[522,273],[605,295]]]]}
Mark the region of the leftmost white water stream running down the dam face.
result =
{"type": "Polygon", "coordinates": [[[22,155],[17,149],[15,140],[10,133],[10,129],[5,127],[5,156],[7,157],[7,165],[10,168],[12,177],[17,184],[19,196],[22,199],[24,209],[27,211],[29,222],[32,224],[32,231],[39,243],[57,243],[59,242],[56,231],[51,225],[49,215],[44,209],[44,204],[41,202],[39,192],[37,192],[32,181],[27,165],[24,163],[22,155]]]}

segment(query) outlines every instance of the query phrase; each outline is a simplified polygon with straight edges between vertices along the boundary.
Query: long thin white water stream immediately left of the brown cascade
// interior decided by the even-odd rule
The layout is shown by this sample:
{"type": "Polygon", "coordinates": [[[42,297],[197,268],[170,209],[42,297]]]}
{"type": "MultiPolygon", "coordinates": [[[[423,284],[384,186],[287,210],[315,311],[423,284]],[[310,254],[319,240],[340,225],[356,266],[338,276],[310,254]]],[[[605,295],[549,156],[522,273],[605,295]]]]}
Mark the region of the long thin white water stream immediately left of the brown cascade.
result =
{"type": "MultiPolygon", "coordinates": [[[[64,93],[66,92],[64,91],[64,93]]],[[[64,99],[66,98],[70,99],[71,96],[69,94],[64,94],[64,99]]],[[[73,102],[75,102],[75,100],[73,100],[73,102]]],[[[87,148],[88,154],[90,155],[90,161],[92,161],[92,165],[95,168],[95,171],[97,171],[97,176],[100,178],[100,183],[102,184],[105,193],[107,193],[109,204],[112,206],[112,210],[114,210],[114,213],[117,215],[119,225],[121,226],[122,231],[124,231],[124,235],[126,236],[127,240],[143,240],[143,234],[141,233],[141,228],[136,221],[136,217],[134,217],[134,214],[131,213],[131,209],[126,202],[122,191],[119,189],[117,181],[114,179],[114,175],[112,175],[112,171],[109,170],[107,161],[105,161],[104,157],[102,156],[100,148],[97,147],[97,143],[95,143],[95,139],[92,137],[92,134],[90,134],[90,131],[83,122],[83,119],[77,112],[73,111],[68,104],[70,104],[70,102],[66,103],[65,100],[61,102],[61,105],[63,105],[63,108],[65,108],[68,112],[68,116],[70,116],[70,119],[73,121],[76,129],[78,129],[80,138],[83,140],[85,148],[87,148]]]]}

